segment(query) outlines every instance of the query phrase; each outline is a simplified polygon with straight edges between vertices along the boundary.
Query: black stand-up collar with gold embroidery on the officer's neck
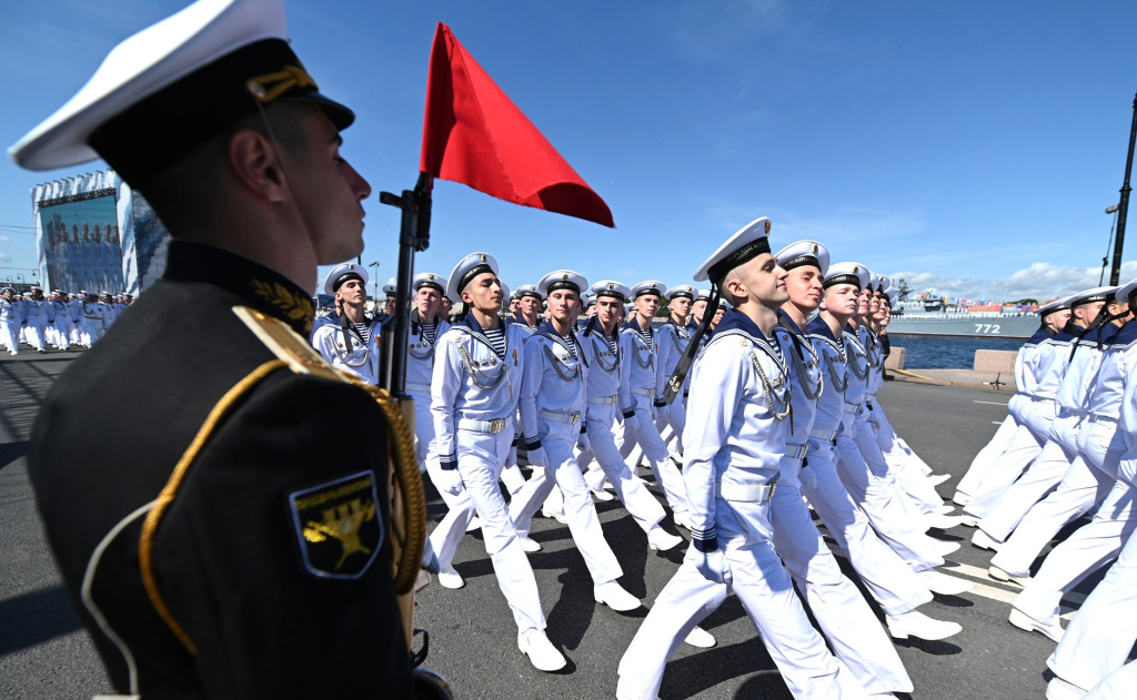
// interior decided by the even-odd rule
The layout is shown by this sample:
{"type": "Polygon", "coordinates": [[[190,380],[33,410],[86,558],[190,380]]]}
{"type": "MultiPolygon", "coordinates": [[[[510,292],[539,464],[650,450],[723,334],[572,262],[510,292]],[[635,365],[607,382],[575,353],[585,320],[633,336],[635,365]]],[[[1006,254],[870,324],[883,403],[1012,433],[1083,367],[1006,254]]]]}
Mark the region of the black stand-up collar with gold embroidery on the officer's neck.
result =
{"type": "Polygon", "coordinates": [[[223,248],[171,241],[164,280],[200,282],[241,297],[254,309],[279,318],[300,335],[312,335],[315,307],[300,286],[256,260],[223,248]]]}

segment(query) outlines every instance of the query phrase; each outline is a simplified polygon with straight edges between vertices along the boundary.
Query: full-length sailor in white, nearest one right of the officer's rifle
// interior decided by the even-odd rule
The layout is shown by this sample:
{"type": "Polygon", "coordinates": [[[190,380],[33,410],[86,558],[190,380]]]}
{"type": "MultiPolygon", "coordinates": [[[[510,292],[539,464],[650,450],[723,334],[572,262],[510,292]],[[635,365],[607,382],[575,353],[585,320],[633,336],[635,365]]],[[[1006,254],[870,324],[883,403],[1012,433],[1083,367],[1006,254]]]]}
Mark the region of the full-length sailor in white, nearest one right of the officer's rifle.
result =
{"type": "MultiPolygon", "coordinates": [[[[447,295],[462,299],[467,312],[441,335],[434,350],[431,411],[438,474],[447,480],[441,489],[450,493],[464,489],[473,501],[485,552],[513,610],[518,649],[539,670],[554,672],[566,661],[545,635],[537,580],[498,486],[516,430],[514,414],[529,333],[498,316],[501,284],[497,273],[492,256],[475,252],[455,266],[447,284],[447,295]]],[[[539,445],[534,451],[540,451],[539,445]]]]}

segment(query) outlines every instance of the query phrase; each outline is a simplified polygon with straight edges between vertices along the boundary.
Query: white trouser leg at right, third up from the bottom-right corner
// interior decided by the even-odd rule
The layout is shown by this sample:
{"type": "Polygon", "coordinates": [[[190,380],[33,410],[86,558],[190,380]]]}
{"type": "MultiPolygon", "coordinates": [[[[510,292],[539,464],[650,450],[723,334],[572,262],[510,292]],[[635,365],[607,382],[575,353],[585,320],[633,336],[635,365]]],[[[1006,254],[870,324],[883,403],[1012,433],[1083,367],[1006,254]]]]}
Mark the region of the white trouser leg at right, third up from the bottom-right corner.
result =
{"type": "Polygon", "coordinates": [[[1113,422],[1088,422],[1079,443],[1085,448],[1070,463],[1057,488],[1023,516],[991,558],[993,566],[1014,576],[1029,576],[1030,565],[1054,535],[1109,495],[1117,482],[1118,463],[1126,453],[1124,434],[1113,422]]]}

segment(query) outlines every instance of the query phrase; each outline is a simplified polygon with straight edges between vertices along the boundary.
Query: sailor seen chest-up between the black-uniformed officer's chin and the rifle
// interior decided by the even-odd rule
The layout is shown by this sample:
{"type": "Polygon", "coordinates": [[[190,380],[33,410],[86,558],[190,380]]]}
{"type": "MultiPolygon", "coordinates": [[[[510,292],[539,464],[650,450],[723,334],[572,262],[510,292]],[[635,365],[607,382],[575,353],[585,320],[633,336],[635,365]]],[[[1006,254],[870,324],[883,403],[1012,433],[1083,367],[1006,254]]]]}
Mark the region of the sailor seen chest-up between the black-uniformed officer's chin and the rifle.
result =
{"type": "Polygon", "coordinates": [[[316,328],[313,347],[332,367],[379,384],[380,322],[364,311],[367,303],[367,268],[345,262],[324,278],[324,293],[335,299],[338,323],[316,328]]]}

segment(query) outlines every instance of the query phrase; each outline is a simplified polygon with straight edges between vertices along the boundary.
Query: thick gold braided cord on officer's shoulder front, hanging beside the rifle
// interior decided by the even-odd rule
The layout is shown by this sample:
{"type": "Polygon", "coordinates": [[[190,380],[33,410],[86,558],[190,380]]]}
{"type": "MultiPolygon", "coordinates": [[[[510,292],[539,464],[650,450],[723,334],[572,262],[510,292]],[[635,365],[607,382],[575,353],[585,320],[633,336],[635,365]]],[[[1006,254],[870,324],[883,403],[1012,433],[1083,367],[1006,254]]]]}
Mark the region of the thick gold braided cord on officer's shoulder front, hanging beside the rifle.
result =
{"type": "MultiPolygon", "coordinates": [[[[505,374],[505,367],[501,368],[505,374]]],[[[390,392],[364,384],[355,377],[351,383],[364,389],[375,399],[387,417],[388,452],[391,458],[391,548],[395,569],[395,592],[405,595],[415,588],[426,550],[426,491],[418,473],[415,435],[390,392]]]]}

